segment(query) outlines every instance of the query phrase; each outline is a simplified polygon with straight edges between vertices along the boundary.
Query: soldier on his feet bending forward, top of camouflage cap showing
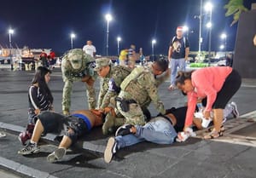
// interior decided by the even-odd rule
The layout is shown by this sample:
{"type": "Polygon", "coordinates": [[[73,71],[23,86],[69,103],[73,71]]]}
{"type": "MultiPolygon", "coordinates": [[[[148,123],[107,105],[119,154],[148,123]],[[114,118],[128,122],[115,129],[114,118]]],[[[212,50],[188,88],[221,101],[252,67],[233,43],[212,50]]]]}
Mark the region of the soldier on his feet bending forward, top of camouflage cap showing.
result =
{"type": "Polygon", "coordinates": [[[93,86],[96,72],[93,71],[93,65],[95,60],[90,55],[86,55],[82,49],[71,49],[63,56],[61,61],[62,78],[65,83],[62,95],[63,114],[69,115],[73,82],[76,81],[84,82],[86,86],[89,109],[96,107],[96,92],[93,86]]]}

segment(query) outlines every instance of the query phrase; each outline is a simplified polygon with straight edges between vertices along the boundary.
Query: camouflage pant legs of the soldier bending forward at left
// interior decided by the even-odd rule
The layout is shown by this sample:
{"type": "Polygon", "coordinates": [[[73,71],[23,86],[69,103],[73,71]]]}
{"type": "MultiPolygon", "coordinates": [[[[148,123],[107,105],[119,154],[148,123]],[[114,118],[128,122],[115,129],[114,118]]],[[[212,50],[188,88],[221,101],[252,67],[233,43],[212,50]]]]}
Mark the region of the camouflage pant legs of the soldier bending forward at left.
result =
{"type": "MultiPolygon", "coordinates": [[[[94,109],[96,107],[96,92],[93,86],[85,83],[86,95],[88,100],[89,109],[94,109]]],[[[73,90],[73,81],[67,80],[63,87],[62,94],[62,111],[69,112],[71,106],[71,93],[73,90]]]]}

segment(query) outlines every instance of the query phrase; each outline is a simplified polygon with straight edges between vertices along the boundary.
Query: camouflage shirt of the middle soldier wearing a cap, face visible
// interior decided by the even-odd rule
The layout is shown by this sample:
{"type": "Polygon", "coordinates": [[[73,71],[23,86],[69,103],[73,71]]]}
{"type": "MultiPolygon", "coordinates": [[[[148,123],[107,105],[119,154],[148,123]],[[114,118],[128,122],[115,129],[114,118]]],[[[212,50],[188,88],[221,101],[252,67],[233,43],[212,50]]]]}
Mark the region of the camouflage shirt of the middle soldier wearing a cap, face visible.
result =
{"type": "Polygon", "coordinates": [[[131,73],[131,70],[131,68],[125,66],[110,66],[108,75],[101,80],[101,90],[98,98],[99,108],[107,107],[110,99],[119,94],[120,84],[131,73]]]}

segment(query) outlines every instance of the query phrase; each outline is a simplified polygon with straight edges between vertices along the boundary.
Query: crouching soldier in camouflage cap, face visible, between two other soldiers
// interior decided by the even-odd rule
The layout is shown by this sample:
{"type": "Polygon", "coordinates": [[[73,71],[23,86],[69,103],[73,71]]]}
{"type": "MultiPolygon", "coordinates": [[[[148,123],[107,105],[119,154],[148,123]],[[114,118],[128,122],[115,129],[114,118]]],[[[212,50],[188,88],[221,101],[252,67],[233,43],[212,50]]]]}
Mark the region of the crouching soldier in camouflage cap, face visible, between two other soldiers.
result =
{"type": "MultiPolygon", "coordinates": [[[[115,97],[119,94],[120,84],[131,73],[131,68],[125,66],[113,66],[108,58],[96,59],[95,71],[102,78],[101,89],[98,97],[98,108],[104,112],[108,106],[115,107],[115,97]]],[[[104,135],[108,134],[108,129],[113,126],[120,126],[124,123],[125,118],[117,112],[117,116],[113,116],[109,112],[102,126],[104,135]],[[116,118],[118,117],[118,118],[116,118]]]]}

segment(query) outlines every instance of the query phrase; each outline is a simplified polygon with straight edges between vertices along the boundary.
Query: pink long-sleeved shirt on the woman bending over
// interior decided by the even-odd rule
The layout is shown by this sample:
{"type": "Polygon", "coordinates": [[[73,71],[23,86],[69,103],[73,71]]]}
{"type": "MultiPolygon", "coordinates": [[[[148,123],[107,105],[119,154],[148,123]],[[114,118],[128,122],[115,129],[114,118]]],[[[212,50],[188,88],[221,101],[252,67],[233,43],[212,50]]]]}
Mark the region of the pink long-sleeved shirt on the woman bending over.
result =
{"type": "Polygon", "coordinates": [[[230,66],[212,66],[196,70],[191,75],[191,82],[194,90],[188,92],[188,110],[186,114],[185,126],[193,122],[195,106],[197,99],[207,97],[207,106],[205,111],[212,110],[212,104],[216,100],[217,93],[225,82],[225,79],[232,72],[230,66]]]}

